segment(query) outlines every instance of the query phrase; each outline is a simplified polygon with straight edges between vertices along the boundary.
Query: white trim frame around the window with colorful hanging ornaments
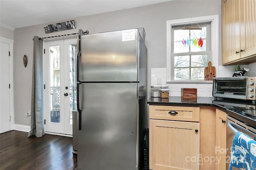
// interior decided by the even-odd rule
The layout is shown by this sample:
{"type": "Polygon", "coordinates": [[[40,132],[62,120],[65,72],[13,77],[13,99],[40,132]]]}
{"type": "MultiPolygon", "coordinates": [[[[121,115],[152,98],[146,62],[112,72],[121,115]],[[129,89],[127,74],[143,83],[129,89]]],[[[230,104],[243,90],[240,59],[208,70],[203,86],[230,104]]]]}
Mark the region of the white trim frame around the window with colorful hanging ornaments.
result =
{"type": "Polygon", "coordinates": [[[212,66],[216,66],[216,73],[218,73],[218,61],[219,61],[219,16],[203,16],[195,18],[185,18],[179,20],[168,20],[166,21],[166,83],[212,83],[212,81],[202,81],[202,80],[171,80],[171,54],[172,54],[172,37],[171,31],[172,26],[182,25],[191,22],[211,22],[211,53],[212,53],[212,66]]]}

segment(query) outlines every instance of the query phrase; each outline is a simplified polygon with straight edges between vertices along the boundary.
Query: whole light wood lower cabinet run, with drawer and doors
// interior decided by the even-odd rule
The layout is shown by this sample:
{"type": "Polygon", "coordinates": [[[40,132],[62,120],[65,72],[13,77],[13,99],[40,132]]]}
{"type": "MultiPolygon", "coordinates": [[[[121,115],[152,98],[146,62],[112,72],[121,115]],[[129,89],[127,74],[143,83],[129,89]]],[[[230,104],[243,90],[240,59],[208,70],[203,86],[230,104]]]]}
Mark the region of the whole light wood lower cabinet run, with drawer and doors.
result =
{"type": "Polygon", "coordinates": [[[149,115],[150,170],[226,169],[225,111],[150,105],[149,115]]]}

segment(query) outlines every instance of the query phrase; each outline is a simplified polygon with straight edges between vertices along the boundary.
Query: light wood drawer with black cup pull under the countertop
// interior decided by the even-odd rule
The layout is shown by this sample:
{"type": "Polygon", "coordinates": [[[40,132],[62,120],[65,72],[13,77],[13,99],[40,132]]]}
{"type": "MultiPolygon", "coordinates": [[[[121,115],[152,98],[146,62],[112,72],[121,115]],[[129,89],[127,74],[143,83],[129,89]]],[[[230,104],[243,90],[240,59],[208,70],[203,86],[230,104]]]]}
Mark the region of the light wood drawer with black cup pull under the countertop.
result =
{"type": "Polygon", "coordinates": [[[150,119],[199,122],[200,107],[149,106],[150,119]]]}

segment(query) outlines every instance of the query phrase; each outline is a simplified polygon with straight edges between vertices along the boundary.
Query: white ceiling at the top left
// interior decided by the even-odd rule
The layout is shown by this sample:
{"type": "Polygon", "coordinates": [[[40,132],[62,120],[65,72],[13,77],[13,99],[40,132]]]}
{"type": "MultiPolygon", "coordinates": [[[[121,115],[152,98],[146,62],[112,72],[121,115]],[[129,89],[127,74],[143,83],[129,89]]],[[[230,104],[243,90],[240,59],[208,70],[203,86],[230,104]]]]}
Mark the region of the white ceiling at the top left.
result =
{"type": "Polygon", "coordinates": [[[170,0],[0,0],[0,25],[15,29],[170,0]]]}

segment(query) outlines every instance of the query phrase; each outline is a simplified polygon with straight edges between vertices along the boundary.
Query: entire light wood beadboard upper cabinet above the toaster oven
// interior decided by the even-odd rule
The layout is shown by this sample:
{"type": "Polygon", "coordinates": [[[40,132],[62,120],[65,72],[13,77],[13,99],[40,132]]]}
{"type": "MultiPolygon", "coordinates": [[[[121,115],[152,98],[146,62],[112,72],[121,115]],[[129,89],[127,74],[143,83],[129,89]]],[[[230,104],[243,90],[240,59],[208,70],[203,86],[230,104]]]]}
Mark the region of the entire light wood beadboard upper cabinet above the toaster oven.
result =
{"type": "Polygon", "coordinates": [[[222,64],[256,62],[256,0],[222,0],[222,64]]]}

